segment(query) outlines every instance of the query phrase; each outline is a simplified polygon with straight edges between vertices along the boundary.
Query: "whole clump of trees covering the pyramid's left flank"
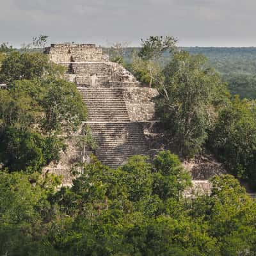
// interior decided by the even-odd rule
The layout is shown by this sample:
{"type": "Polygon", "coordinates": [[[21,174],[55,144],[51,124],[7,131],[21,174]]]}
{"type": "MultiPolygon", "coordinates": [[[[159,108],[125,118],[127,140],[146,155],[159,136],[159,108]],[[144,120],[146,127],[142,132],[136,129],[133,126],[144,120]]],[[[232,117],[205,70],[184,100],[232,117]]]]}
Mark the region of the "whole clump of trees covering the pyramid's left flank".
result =
{"type": "Polygon", "coordinates": [[[9,52],[0,76],[9,83],[0,90],[0,162],[10,171],[40,171],[65,150],[59,135],[70,136],[86,120],[81,95],[40,53],[9,52]]]}

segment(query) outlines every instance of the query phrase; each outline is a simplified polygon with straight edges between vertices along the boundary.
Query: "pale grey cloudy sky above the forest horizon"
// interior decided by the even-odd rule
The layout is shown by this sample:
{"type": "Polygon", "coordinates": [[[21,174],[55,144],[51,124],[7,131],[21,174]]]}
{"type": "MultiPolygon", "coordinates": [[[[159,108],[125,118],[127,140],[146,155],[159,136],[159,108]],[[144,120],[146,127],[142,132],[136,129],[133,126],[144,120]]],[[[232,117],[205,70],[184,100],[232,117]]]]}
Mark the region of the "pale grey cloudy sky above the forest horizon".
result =
{"type": "Polygon", "coordinates": [[[0,43],[33,36],[107,45],[172,35],[181,46],[256,46],[256,0],[0,0],[0,43]]]}

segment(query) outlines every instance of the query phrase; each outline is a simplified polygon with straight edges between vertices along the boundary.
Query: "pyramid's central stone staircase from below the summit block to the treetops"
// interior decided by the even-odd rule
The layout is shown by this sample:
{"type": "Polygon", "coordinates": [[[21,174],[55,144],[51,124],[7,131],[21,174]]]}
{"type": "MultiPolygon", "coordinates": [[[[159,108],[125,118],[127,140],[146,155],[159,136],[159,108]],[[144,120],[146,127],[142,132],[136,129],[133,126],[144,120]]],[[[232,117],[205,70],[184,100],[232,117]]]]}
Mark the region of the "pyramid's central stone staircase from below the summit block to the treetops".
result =
{"type": "Polygon", "coordinates": [[[90,128],[97,144],[94,154],[100,162],[116,168],[127,163],[131,156],[147,155],[149,148],[143,122],[130,120],[124,99],[124,90],[141,88],[140,83],[123,67],[108,61],[63,65],[76,77],[77,90],[88,110],[85,125],[90,128]],[[94,86],[90,81],[92,74],[97,74],[94,86]]]}

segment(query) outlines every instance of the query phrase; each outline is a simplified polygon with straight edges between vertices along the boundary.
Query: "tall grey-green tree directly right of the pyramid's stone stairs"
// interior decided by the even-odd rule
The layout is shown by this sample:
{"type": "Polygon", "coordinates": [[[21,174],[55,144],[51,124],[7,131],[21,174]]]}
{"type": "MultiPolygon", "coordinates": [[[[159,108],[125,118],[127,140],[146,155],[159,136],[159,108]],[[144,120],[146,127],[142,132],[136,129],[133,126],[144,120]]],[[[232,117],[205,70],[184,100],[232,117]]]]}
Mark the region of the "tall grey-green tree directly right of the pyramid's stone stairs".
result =
{"type": "Polygon", "coordinates": [[[202,150],[207,130],[214,124],[214,105],[227,95],[220,76],[203,56],[177,52],[164,70],[157,112],[179,145],[183,156],[202,150]]]}

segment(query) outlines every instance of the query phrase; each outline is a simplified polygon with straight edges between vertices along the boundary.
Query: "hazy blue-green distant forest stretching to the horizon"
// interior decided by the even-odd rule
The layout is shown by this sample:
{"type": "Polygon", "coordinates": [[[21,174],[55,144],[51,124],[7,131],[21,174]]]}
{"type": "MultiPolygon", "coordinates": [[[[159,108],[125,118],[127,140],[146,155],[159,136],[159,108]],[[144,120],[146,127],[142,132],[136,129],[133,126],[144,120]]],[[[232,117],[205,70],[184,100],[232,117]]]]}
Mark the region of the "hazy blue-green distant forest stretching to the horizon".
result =
{"type": "MultiPolygon", "coordinates": [[[[238,94],[242,99],[256,99],[256,47],[180,47],[180,50],[204,55],[220,72],[232,94],[238,94]]],[[[132,51],[140,49],[127,47],[125,61],[131,61],[132,51]]],[[[164,52],[162,61],[169,58],[169,52],[164,52]]]]}

